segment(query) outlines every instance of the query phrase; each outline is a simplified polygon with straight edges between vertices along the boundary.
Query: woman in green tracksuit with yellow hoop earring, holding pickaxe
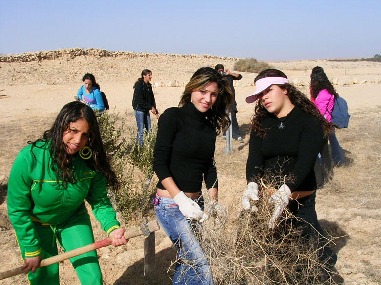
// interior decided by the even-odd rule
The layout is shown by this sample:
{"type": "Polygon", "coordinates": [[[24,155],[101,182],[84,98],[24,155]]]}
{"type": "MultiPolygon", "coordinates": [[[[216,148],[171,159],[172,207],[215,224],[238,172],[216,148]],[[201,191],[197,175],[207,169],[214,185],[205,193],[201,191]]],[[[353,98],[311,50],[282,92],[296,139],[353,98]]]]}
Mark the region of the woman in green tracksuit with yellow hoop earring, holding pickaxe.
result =
{"type": "MultiPolygon", "coordinates": [[[[66,104],[50,130],[22,149],[8,181],[8,215],[15,229],[22,266],[32,285],[58,285],[58,264],[38,268],[41,259],[94,242],[84,200],[113,245],[126,244],[107,185],[120,183],[110,168],[94,111],[81,102],[66,104]]],[[[96,251],[70,259],[81,284],[102,285],[96,251]]]]}

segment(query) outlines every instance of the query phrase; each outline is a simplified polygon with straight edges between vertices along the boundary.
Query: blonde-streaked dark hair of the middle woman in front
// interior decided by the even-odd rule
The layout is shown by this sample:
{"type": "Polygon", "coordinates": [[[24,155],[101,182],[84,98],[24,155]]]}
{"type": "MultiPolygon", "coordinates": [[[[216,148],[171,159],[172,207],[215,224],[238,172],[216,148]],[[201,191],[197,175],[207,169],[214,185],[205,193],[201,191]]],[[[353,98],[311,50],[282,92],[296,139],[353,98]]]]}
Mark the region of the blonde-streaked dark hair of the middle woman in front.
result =
{"type": "Polygon", "coordinates": [[[193,74],[191,80],[185,86],[179,107],[191,102],[193,91],[198,91],[211,82],[217,83],[218,96],[212,108],[205,112],[205,115],[217,131],[217,134],[219,134],[230,125],[230,119],[226,110],[233,100],[233,93],[230,90],[228,80],[224,79],[214,68],[202,67],[193,74]]]}

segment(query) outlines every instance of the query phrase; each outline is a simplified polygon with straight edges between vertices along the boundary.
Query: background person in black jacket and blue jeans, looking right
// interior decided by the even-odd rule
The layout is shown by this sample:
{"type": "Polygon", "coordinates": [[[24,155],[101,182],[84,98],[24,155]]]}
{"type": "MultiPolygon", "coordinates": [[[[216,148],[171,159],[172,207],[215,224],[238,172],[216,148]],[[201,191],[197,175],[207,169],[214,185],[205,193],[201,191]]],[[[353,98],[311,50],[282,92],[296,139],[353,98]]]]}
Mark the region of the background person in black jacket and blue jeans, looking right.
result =
{"type": "Polygon", "coordinates": [[[136,140],[139,145],[143,144],[144,129],[149,132],[151,130],[151,117],[149,111],[159,116],[156,110],[155,97],[153,96],[152,85],[149,83],[152,80],[152,72],[149,69],[142,70],[142,77],[140,77],[134,84],[134,96],[132,98],[132,107],[136,118],[136,125],[138,126],[138,133],[136,140]]]}

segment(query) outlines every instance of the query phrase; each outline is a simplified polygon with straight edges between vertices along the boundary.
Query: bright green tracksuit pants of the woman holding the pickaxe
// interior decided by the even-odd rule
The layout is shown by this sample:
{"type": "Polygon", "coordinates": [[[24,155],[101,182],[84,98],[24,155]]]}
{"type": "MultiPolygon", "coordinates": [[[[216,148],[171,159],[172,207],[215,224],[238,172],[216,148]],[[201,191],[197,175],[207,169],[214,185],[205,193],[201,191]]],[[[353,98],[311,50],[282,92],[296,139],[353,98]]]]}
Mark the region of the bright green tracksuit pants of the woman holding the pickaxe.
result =
{"type": "MultiPolygon", "coordinates": [[[[56,238],[65,252],[94,242],[90,217],[87,212],[58,226],[43,225],[38,222],[34,222],[34,226],[42,249],[42,259],[57,255],[56,238]]],[[[24,248],[20,247],[20,251],[24,260],[24,248]]],[[[70,262],[82,285],[103,284],[95,250],[70,258],[70,262]]],[[[29,272],[28,279],[31,285],[59,285],[58,263],[38,268],[35,273],[29,272]]]]}

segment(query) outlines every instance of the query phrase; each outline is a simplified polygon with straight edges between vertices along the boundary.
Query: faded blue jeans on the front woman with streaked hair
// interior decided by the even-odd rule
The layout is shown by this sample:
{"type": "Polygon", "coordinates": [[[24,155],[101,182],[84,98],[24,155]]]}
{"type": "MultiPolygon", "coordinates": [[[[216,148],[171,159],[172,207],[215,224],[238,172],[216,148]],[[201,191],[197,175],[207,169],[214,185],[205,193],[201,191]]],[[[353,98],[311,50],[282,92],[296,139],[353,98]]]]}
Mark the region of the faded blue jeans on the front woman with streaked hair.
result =
{"type": "Polygon", "coordinates": [[[197,242],[195,229],[173,199],[156,197],[159,198],[159,204],[155,205],[156,218],[178,249],[173,285],[213,285],[212,272],[197,242]]]}

